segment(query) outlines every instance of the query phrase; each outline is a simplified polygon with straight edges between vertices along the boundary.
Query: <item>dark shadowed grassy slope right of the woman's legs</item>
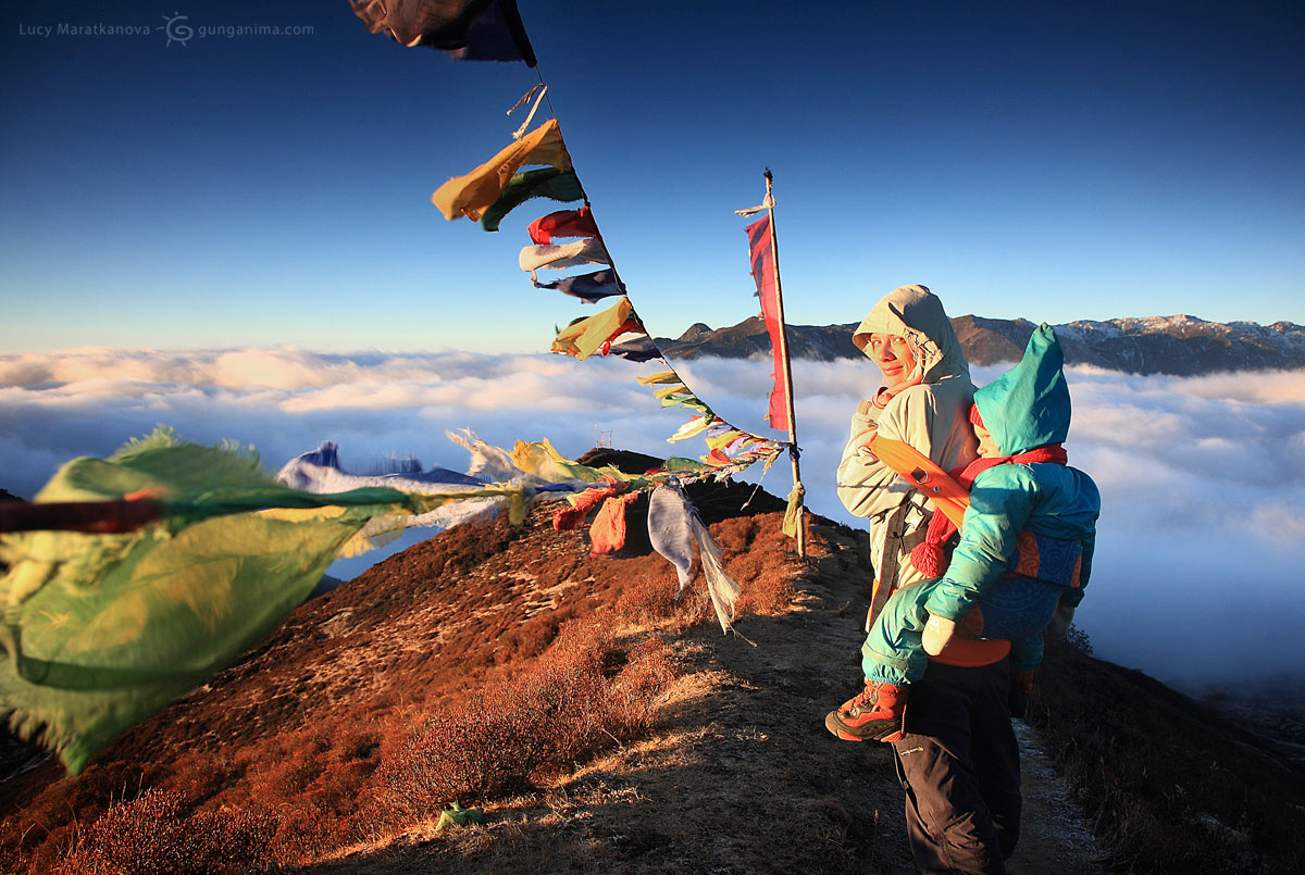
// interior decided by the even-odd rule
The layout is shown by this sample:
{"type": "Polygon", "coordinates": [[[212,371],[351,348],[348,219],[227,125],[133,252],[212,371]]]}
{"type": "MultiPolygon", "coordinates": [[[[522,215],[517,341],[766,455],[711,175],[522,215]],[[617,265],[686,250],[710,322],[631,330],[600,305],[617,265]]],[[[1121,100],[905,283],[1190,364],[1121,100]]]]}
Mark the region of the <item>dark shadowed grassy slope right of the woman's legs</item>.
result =
{"type": "MultiPolygon", "coordinates": [[[[1305,871],[1305,776],[1141,672],[1049,644],[1030,721],[1124,872],[1305,871]]],[[[1084,645],[1087,645],[1084,648],[1084,645]]]]}

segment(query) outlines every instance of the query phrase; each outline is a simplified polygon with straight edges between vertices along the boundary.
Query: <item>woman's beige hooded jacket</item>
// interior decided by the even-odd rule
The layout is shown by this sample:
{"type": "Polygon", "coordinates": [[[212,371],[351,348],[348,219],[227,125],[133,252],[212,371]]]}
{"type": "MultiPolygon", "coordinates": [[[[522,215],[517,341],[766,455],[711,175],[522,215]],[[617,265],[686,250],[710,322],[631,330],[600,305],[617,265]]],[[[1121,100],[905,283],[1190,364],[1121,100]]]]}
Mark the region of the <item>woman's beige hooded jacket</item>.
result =
{"type": "MultiPolygon", "coordinates": [[[[898,588],[925,579],[911,566],[910,553],[923,537],[930,511],[919,490],[880,462],[865,443],[878,432],[911,445],[945,471],[964,467],[977,455],[967,419],[974,385],[942,303],[927,287],[903,286],[886,295],[856,326],[852,343],[869,356],[867,346],[876,333],[900,335],[912,343],[912,376],[921,382],[890,398],[882,409],[863,404],[852,416],[851,436],[838,466],[838,497],[851,512],[869,520],[870,561],[881,579],[889,523],[904,507],[904,549],[894,549],[894,579],[882,580],[898,588]]],[[[894,565],[891,558],[889,567],[894,565]]]]}

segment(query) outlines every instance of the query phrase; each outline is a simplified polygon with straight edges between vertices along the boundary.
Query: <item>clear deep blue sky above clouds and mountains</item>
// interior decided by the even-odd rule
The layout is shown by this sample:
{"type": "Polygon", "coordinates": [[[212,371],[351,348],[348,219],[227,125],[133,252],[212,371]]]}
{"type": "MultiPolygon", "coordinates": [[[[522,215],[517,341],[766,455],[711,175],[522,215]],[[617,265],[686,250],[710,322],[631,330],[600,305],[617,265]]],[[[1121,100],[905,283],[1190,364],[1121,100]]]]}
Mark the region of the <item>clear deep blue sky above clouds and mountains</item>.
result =
{"type": "MultiPolygon", "coordinates": [[[[954,316],[1305,322],[1305,13],[1289,3],[521,0],[654,334],[754,310],[775,172],[791,322],[923,282],[954,316]]],[[[535,81],[345,0],[35,3],[0,23],[0,351],[536,352],[590,312],[431,192],[535,81]],[[60,35],[64,25],[311,27],[60,35]],[[54,27],[48,37],[34,29],[54,27]]]]}

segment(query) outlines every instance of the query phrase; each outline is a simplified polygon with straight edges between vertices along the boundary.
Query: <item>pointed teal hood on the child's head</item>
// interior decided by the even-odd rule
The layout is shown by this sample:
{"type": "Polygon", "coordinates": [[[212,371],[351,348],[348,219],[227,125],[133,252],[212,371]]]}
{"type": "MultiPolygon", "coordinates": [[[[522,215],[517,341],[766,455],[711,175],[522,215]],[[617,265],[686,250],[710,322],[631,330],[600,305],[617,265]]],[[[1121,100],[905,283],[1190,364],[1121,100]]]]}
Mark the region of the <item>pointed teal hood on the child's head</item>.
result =
{"type": "Polygon", "coordinates": [[[1065,441],[1070,413],[1065,353],[1049,325],[1043,322],[1028,338],[1018,365],[975,390],[975,406],[1004,455],[1065,441]]]}

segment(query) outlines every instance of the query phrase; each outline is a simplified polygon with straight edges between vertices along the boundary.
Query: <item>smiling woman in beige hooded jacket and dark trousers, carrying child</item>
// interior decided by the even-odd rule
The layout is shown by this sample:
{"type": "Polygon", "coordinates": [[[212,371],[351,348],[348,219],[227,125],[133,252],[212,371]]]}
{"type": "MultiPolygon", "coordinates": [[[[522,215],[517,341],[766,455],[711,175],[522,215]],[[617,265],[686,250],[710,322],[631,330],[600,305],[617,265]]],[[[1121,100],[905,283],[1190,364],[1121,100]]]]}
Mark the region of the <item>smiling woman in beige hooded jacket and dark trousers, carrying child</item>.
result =
{"type": "MultiPolygon", "coordinates": [[[[979,442],[968,421],[970,369],[941,301],[928,288],[894,289],[857,326],[852,342],[883,377],[883,386],[852,416],[838,467],[839,498],[869,520],[873,619],[894,589],[927,579],[911,565],[911,549],[924,540],[930,509],[865,445],[878,433],[954,471],[977,458],[979,442]]],[[[929,657],[924,677],[911,686],[902,732],[891,745],[906,792],[907,836],[921,871],[1000,875],[1015,849],[1022,799],[1019,747],[1007,711],[1009,647],[953,639],[929,657]]],[[[859,709],[876,704],[863,692],[837,713],[855,721],[859,709]]]]}

